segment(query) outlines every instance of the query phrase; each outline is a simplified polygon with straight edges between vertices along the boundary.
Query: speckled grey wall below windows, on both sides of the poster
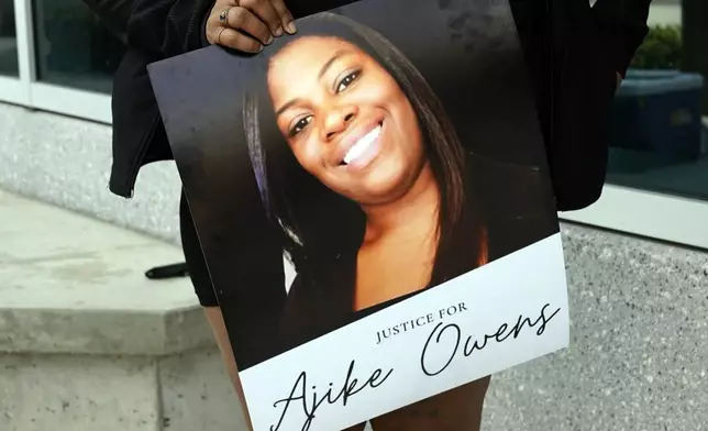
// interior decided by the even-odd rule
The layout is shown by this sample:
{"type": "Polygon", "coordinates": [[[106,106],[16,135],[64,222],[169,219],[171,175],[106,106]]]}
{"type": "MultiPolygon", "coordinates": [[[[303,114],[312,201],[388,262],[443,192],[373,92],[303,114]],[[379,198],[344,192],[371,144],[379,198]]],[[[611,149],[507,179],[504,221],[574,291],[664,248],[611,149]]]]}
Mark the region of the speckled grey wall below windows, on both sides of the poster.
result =
{"type": "MultiPolygon", "coordinates": [[[[125,201],[106,186],[108,126],[1,103],[0,119],[0,188],[177,242],[179,183],[170,164],[144,169],[135,198],[125,201]]],[[[484,429],[703,429],[708,254],[568,224],[563,234],[571,347],[496,376],[484,429]]],[[[219,398],[218,361],[201,364],[191,378],[203,379],[206,391],[219,398]]],[[[174,365],[190,366],[189,360],[174,365]]],[[[201,419],[175,420],[199,429],[201,419]]]]}

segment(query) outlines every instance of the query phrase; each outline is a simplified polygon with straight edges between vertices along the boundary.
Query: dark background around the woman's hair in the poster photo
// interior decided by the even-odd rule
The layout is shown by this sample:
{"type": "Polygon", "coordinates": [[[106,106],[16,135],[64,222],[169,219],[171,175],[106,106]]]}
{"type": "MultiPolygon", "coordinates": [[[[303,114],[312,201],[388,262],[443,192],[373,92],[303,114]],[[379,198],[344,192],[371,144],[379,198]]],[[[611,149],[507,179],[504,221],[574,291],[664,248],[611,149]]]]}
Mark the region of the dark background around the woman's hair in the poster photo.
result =
{"type": "MultiPolygon", "coordinates": [[[[403,52],[468,150],[545,174],[533,97],[506,0],[367,0],[333,11],[378,31],[403,52]]],[[[269,340],[286,299],[283,267],[265,264],[280,263],[283,250],[266,229],[241,123],[242,86],[254,63],[209,47],[150,67],[241,371],[279,353],[269,340]]],[[[552,190],[543,179],[552,218],[552,190]]]]}

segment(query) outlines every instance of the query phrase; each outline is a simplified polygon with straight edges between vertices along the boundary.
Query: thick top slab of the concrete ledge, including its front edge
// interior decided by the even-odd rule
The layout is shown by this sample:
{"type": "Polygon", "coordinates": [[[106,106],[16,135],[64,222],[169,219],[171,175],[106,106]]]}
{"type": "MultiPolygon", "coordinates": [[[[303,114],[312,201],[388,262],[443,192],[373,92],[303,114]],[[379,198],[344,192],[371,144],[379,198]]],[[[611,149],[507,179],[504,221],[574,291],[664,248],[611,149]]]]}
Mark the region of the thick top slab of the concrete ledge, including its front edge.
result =
{"type": "Polygon", "coordinates": [[[0,352],[167,354],[209,336],[181,251],[0,190],[0,352]]]}

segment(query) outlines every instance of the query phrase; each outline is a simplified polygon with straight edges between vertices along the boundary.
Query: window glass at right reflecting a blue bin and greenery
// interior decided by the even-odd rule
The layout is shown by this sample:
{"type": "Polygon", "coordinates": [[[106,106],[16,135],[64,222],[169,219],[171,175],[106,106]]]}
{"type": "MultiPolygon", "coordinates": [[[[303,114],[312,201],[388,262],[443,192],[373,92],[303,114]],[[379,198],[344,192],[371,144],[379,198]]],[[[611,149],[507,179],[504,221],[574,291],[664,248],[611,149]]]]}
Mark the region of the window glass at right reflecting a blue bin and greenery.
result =
{"type": "Polygon", "coordinates": [[[615,100],[608,183],[708,200],[708,1],[652,8],[615,100]]]}

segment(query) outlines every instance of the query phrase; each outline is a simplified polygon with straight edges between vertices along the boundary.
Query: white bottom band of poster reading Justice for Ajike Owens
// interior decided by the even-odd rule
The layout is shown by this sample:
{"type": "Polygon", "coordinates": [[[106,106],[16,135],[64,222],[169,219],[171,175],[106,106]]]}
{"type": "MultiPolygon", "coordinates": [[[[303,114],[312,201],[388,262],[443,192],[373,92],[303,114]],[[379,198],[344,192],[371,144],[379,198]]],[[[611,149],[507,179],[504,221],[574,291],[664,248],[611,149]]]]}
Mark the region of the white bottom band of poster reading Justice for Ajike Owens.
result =
{"type": "Polygon", "coordinates": [[[241,380],[255,431],[333,431],[565,349],[568,333],[557,233],[251,367],[241,380]]]}

